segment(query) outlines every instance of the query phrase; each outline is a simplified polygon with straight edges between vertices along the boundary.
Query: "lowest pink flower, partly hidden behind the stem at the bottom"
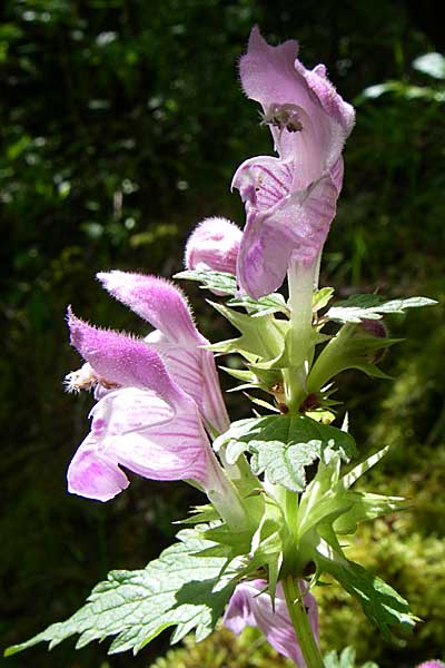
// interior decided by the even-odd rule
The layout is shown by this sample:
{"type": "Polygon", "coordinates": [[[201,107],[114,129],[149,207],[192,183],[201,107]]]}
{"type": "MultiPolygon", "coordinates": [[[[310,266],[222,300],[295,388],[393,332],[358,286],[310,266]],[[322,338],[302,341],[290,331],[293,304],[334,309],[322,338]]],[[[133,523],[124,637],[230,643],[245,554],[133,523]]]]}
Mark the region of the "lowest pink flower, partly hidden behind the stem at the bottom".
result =
{"type": "MultiPolygon", "coordinates": [[[[297,666],[305,666],[281,584],[277,587],[275,610],[266,590],[267,582],[265,580],[253,580],[238,584],[226,609],[224,625],[237,635],[246,626],[258,627],[274,649],[293,659],[297,666]]],[[[318,613],[315,598],[307,593],[304,602],[308,609],[309,623],[318,638],[318,613]]]]}

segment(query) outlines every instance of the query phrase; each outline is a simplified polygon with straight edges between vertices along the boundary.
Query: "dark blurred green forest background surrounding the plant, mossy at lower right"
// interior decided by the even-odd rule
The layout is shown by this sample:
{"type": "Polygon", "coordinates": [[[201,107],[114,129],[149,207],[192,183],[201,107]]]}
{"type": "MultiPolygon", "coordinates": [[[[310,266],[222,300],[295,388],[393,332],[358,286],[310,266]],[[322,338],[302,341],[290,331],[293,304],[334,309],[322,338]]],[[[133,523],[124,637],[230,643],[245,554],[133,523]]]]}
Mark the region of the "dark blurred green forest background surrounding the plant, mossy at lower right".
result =
{"type": "MultiPolygon", "coordinates": [[[[206,216],[244,224],[229,184],[247,157],[270,154],[237,59],[258,23],[297,38],[307,67],[325,62],[357,106],[345,188],[322,279],[340,296],[445,294],[445,68],[413,67],[445,51],[437,3],[385,0],[6,0],[0,9],[0,480],[1,646],[81,605],[111,568],[139,568],[172,539],[198,501],[184,484],[134,482],[107,504],[70,497],[66,469],[88,429],[89,396],[63,394],[80,361],[67,343],[68,303],[99,325],[145,333],[107,298],[99,269],[169,276],[206,216]],[[421,69],[419,69],[421,68],[421,69]],[[389,84],[386,84],[388,82],[389,84]],[[370,88],[379,86],[377,88],[370,88]],[[365,90],[365,94],[363,92],[365,90]]],[[[429,62],[429,65],[428,65],[429,62]]],[[[442,62],[442,65],[441,65],[442,62]]],[[[192,298],[210,340],[225,324],[192,298]]],[[[200,299],[198,298],[200,297],[200,299]]],[[[404,515],[365,527],[352,553],[388,579],[423,618],[385,644],[357,606],[325,588],[322,639],[357,647],[382,667],[445,658],[445,411],[443,305],[388,322],[406,336],[383,362],[392,382],[344,374],[340,395],[359,446],[392,443],[368,475],[373,491],[413,500],[404,515]]],[[[226,382],[226,380],[224,381],[226,382]]],[[[239,400],[231,415],[249,410],[239,400]]],[[[11,668],[164,668],[285,665],[255,635],[216,633],[170,652],[168,635],[137,658],[67,642],[0,664],[11,668]]]]}

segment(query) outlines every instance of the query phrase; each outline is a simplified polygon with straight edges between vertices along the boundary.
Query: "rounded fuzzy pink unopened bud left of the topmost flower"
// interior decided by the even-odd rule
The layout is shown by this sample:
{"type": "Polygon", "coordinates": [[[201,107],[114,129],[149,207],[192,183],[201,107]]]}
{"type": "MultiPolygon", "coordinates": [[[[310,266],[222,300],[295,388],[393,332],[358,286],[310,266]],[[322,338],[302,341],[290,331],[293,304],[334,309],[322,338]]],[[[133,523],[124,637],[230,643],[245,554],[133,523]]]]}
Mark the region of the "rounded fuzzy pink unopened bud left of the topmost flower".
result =
{"type": "Polygon", "coordinates": [[[185,265],[188,269],[236,274],[243,232],[227,218],[205,218],[188,238],[185,265]]]}

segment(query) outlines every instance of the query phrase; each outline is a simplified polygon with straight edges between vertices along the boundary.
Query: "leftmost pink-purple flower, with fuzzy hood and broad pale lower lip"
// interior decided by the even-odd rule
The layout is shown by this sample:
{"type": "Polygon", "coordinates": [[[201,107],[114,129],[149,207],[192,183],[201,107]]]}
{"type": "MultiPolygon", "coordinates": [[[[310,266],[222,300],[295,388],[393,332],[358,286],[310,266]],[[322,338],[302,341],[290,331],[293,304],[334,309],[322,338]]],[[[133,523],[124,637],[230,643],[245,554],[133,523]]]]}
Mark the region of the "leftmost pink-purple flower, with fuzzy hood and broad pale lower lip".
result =
{"type": "Polygon", "coordinates": [[[218,488],[218,464],[194,400],[144,341],[68,315],[71,343],[110,390],[68,469],[69,491],[107,501],[128,487],[119,468],[151,480],[192,479],[218,488]]]}

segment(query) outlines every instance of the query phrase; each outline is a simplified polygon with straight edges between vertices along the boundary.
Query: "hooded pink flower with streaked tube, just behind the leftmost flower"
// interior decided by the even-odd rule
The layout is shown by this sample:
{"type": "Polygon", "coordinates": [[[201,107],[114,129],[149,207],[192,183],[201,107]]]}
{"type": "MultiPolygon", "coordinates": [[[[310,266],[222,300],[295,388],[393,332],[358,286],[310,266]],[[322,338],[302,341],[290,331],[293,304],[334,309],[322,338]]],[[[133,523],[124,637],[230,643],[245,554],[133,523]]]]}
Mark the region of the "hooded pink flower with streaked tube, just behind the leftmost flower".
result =
{"type": "Polygon", "coordinates": [[[98,274],[103,287],[154,327],[146,338],[157,351],[175,383],[191,396],[210,429],[224,432],[229,419],[209,342],[197,330],[187,299],[168,281],[145,274],[98,274]]]}

